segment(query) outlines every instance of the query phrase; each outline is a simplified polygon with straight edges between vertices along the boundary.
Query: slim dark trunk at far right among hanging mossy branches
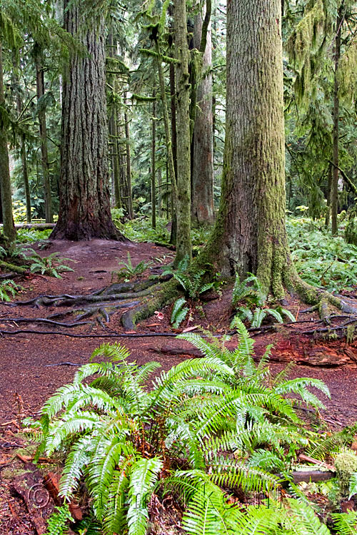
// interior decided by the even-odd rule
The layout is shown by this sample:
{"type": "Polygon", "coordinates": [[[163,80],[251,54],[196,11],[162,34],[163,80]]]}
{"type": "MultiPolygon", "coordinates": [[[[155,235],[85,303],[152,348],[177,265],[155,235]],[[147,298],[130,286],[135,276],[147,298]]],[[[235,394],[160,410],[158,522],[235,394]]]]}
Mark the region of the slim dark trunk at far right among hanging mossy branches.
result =
{"type": "Polygon", "coordinates": [[[341,2],[336,17],[336,39],[335,39],[335,73],[333,87],[333,175],[331,185],[331,231],[337,234],[337,213],[338,213],[338,136],[340,121],[340,101],[338,98],[338,63],[341,54],[341,26],[343,23],[344,2],[341,2]]]}

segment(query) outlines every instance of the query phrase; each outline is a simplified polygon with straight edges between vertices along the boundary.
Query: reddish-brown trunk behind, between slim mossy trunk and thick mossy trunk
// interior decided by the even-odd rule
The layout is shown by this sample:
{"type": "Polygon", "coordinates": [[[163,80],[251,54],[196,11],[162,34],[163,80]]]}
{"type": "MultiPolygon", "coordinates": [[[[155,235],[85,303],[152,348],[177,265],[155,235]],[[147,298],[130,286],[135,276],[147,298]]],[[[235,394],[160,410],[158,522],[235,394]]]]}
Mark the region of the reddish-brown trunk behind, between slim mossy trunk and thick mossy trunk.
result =
{"type": "MultiPolygon", "coordinates": [[[[193,30],[193,46],[200,48],[202,36],[201,14],[196,16],[193,30]]],[[[206,50],[203,54],[203,73],[211,66],[212,40],[208,30],[206,50]]],[[[213,223],[213,113],[212,75],[204,76],[197,89],[196,120],[192,142],[191,218],[192,223],[213,223]]]]}

